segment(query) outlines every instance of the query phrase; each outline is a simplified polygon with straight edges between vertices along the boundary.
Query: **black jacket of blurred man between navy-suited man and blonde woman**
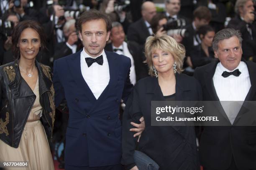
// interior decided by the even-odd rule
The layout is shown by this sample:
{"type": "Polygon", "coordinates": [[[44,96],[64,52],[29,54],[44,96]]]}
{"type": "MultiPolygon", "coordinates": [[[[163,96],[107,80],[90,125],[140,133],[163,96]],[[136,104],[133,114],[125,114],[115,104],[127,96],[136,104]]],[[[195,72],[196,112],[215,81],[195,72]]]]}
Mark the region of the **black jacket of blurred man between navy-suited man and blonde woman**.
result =
{"type": "MultiPolygon", "coordinates": [[[[127,42],[127,44],[128,50],[133,56],[137,82],[138,80],[148,76],[148,66],[146,63],[143,63],[146,58],[144,59],[144,55],[136,42],[127,42]]],[[[105,46],[105,50],[113,52],[112,43],[107,44],[105,46]]]]}

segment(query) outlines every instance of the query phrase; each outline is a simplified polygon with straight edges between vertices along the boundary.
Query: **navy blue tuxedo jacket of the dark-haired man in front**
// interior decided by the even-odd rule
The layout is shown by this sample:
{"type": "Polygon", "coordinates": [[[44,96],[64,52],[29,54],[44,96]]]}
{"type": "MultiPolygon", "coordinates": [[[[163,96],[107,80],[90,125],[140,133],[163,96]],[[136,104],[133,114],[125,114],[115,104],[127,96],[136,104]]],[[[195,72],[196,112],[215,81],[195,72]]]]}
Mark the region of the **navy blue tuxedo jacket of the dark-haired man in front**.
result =
{"type": "Polygon", "coordinates": [[[80,50],[54,62],[55,104],[66,98],[69,121],[66,132],[65,164],[100,167],[120,164],[120,100],[126,102],[133,85],[131,60],[105,51],[110,81],[98,99],[85,82],[80,66],[80,50]]]}

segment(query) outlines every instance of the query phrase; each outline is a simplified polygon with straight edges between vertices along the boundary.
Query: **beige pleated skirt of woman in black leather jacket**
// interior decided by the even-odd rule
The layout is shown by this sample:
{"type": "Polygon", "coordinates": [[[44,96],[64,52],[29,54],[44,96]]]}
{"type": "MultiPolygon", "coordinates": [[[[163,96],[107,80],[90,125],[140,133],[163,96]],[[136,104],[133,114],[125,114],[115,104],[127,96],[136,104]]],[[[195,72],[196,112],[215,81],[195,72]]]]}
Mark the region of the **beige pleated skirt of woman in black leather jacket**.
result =
{"type": "Polygon", "coordinates": [[[40,120],[26,123],[18,148],[0,140],[0,162],[4,161],[28,161],[26,168],[6,170],[54,170],[49,143],[40,120]]]}

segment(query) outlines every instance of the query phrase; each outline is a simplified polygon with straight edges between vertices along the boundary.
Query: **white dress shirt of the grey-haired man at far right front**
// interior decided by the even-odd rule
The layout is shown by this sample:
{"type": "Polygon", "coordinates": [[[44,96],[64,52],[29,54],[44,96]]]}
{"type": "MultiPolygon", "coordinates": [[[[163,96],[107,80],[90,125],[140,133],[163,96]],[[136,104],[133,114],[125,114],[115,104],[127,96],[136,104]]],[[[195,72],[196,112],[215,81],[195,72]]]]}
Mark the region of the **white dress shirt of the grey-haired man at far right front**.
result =
{"type": "MultiPolygon", "coordinates": [[[[239,69],[241,74],[236,77],[230,75],[223,77],[224,71],[232,72],[226,69],[220,62],[217,64],[214,76],[213,84],[220,101],[244,101],[248,94],[251,81],[249,77],[248,68],[245,62],[241,61],[234,70],[239,69]]],[[[241,108],[243,102],[221,102],[225,113],[227,114],[231,124],[233,124],[238,111],[241,108]]]]}

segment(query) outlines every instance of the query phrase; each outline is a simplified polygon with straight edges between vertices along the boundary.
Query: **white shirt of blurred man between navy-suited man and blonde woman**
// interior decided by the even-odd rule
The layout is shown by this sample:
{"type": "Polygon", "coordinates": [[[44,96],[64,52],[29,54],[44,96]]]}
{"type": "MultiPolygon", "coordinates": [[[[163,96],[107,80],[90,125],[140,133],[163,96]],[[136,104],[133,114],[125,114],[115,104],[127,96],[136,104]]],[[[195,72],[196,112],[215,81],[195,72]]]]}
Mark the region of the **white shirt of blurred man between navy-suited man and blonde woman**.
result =
{"type": "Polygon", "coordinates": [[[125,55],[126,57],[129,57],[131,59],[131,68],[130,68],[130,80],[131,80],[131,83],[133,85],[135,85],[136,83],[136,73],[135,73],[135,66],[134,66],[134,60],[133,60],[133,56],[131,55],[131,53],[129,52],[129,49],[128,49],[128,45],[127,45],[127,42],[123,42],[122,45],[120,45],[120,47],[115,47],[113,46],[112,44],[112,47],[113,49],[122,49],[123,51],[120,51],[120,50],[117,50],[116,53],[118,54],[122,54],[122,55],[125,55]]]}

